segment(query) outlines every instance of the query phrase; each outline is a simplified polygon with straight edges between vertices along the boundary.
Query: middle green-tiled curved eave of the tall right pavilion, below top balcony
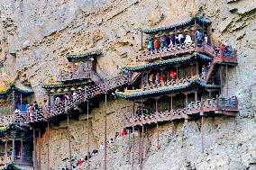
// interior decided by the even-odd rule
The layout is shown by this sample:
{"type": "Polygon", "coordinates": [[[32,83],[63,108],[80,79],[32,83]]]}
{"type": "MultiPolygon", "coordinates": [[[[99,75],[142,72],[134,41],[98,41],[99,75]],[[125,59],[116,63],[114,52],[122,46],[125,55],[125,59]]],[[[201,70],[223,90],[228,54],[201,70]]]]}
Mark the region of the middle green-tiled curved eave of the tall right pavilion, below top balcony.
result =
{"type": "Polygon", "coordinates": [[[150,69],[150,68],[165,67],[165,66],[170,66],[172,64],[181,64],[181,63],[188,62],[188,61],[191,61],[191,60],[197,59],[197,58],[205,60],[205,61],[212,60],[212,58],[210,58],[204,54],[195,52],[192,55],[187,56],[185,58],[174,58],[174,59],[160,60],[160,61],[156,61],[153,63],[145,64],[142,66],[131,66],[131,67],[124,66],[124,67],[122,67],[122,69],[125,69],[128,71],[140,72],[140,71],[143,71],[145,69],[150,69]]]}

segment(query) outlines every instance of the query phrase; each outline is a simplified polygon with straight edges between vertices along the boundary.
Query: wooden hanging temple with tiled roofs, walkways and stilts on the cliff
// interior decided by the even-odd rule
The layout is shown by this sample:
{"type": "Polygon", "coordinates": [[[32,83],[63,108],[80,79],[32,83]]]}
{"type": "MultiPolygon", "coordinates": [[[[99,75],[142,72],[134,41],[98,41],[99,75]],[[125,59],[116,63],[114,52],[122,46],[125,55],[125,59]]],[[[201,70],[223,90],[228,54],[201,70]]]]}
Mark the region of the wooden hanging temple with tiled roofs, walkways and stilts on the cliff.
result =
{"type": "MultiPolygon", "coordinates": [[[[142,136],[148,128],[157,130],[156,145],[159,148],[159,127],[163,124],[201,120],[203,126],[207,117],[238,115],[238,99],[228,92],[229,68],[237,66],[237,52],[232,48],[215,49],[211,37],[207,42],[197,39],[198,32],[210,35],[207,33],[210,24],[206,16],[182,15],[163,23],[165,26],[138,30],[142,36],[153,39],[163,32],[187,33],[192,42],[152,50],[144,47],[142,42],[140,57],[123,66],[120,74],[111,79],[100,77],[96,71],[97,58],[104,56],[101,49],[67,54],[69,66],[61,70],[55,82],[41,85],[48,99],[40,103],[43,107],[38,111],[28,111],[27,103],[32,103],[33,95],[29,85],[18,84],[5,72],[3,65],[0,75],[0,164],[3,169],[19,169],[21,165],[41,169],[38,161],[41,160],[41,150],[36,149],[36,145],[40,145],[36,139],[41,138],[42,133],[50,135],[51,123],[67,120],[69,130],[70,117],[76,118],[80,110],[89,116],[96,107],[92,103],[108,97],[133,102],[133,112],[122,118],[123,129],[128,131],[129,137],[132,135],[129,140],[132,167],[136,161],[134,152],[137,152],[134,131],[140,134],[139,162],[142,166],[143,152],[147,151],[142,146],[147,147],[148,142],[142,136]],[[225,93],[223,84],[227,88],[225,93]],[[65,95],[71,97],[65,98],[65,95]]],[[[105,131],[105,146],[106,136],[105,131]]],[[[50,169],[49,145],[47,169],[50,169]]],[[[69,151],[71,145],[69,136],[69,151]]],[[[71,164],[71,151],[69,158],[71,164]]]]}

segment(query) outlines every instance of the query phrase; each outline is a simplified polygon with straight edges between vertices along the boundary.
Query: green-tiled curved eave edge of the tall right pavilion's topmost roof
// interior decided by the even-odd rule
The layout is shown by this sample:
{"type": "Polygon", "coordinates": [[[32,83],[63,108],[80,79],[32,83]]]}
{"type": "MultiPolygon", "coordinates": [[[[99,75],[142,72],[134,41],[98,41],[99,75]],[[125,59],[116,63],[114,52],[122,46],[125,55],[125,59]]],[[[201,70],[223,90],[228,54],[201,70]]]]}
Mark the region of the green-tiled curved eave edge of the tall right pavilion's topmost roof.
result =
{"type": "Polygon", "coordinates": [[[180,27],[186,27],[188,25],[190,25],[191,23],[194,23],[195,20],[197,22],[201,22],[204,24],[211,24],[212,22],[209,19],[204,19],[203,17],[190,17],[186,22],[180,22],[177,24],[173,24],[173,25],[169,25],[166,27],[160,27],[160,28],[156,28],[156,29],[141,29],[139,31],[142,31],[146,34],[150,34],[150,33],[157,33],[159,31],[169,31],[169,30],[174,30],[175,28],[180,28],[180,27]]]}

